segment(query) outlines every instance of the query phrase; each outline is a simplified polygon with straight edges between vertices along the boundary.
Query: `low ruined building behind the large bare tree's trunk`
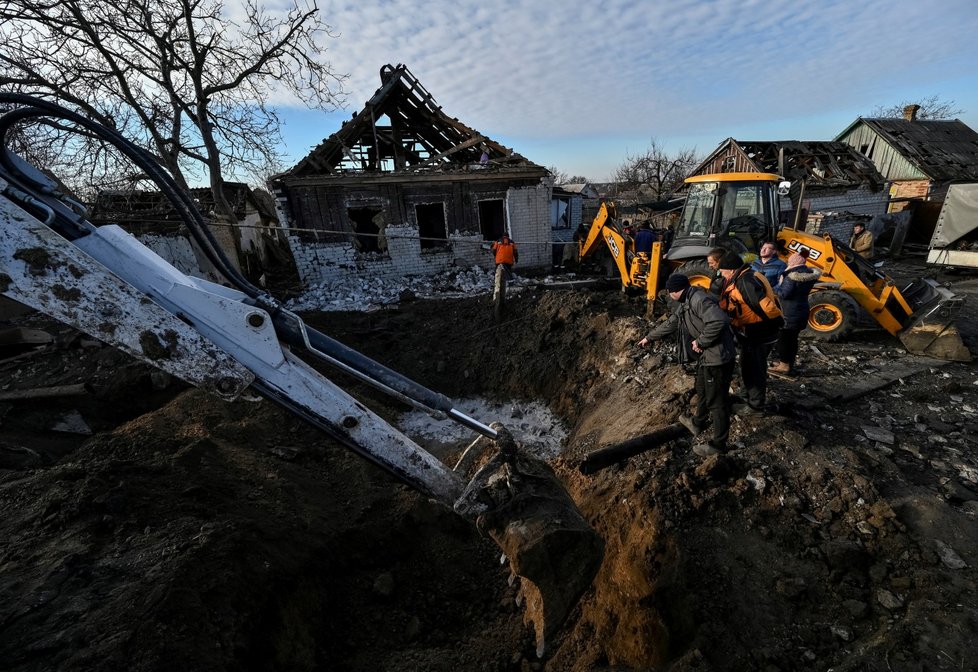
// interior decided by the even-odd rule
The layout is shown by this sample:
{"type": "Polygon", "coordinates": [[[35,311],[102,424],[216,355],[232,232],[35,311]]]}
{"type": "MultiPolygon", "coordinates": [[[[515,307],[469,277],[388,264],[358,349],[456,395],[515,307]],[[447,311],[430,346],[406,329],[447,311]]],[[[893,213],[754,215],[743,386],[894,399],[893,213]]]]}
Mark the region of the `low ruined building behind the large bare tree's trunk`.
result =
{"type": "MultiPolygon", "coordinates": [[[[264,284],[262,276],[268,269],[291,263],[274,202],[267,192],[253,190],[243,182],[225,182],[224,195],[234,210],[234,224],[229,227],[211,222],[210,231],[245,277],[264,284]]],[[[191,189],[190,196],[205,217],[213,211],[210,188],[191,189]]],[[[173,203],[159,191],[102,191],[92,204],[90,219],[99,226],[120,225],[182,273],[220,279],[192,242],[173,203]]]]}

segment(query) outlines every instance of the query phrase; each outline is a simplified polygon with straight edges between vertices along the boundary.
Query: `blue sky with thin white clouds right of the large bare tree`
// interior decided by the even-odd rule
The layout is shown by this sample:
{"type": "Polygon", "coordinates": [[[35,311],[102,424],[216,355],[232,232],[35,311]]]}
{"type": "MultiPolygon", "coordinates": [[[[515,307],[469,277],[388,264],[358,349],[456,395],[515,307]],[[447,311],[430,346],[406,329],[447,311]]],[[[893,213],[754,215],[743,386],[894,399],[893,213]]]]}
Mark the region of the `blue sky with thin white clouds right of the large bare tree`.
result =
{"type": "MultiPolygon", "coordinates": [[[[274,4],[274,3],[273,3],[274,4]]],[[[831,140],[938,95],[978,129],[978,0],[320,0],[347,107],[282,109],[289,165],[404,63],[449,116],[531,161],[609,179],[655,138],[831,140]]]]}

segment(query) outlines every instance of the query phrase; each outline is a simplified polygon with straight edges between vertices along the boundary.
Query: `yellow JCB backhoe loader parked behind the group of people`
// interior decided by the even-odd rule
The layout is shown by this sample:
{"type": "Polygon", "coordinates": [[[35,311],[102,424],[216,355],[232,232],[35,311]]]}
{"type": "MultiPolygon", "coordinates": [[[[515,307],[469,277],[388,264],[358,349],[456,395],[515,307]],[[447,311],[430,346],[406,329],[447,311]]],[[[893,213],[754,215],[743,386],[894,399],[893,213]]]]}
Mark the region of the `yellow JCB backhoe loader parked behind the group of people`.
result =
{"type": "MultiPolygon", "coordinates": [[[[643,283],[654,300],[669,273],[684,273],[692,284],[709,287],[713,272],[706,264],[710,250],[721,247],[736,252],[745,262],[755,258],[760,243],[776,240],[783,258],[807,249],[809,264],[822,271],[821,282],[811,295],[808,327],[815,337],[837,341],[856,326],[865,310],[909,352],[953,361],[971,361],[954,320],[964,298],[934,280],[919,278],[902,290],[879,268],[829,235],[814,235],[779,225],[779,195],[789,184],[772,173],[717,173],[686,179],[689,191],[667,251],[656,247],[642,277],[626,265],[627,245],[618,230],[602,222],[588,235],[588,242],[602,235],[612,256],[619,259],[622,283],[643,283]],[[618,255],[614,246],[622,247],[618,255]],[[626,269],[629,274],[626,275],[626,269]]],[[[600,214],[599,214],[600,218],[600,214]]],[[[595,219],[598,224],[598,219],[595,219]]],[[[585,247],[582,246],[582,251],[585,247]]]]}

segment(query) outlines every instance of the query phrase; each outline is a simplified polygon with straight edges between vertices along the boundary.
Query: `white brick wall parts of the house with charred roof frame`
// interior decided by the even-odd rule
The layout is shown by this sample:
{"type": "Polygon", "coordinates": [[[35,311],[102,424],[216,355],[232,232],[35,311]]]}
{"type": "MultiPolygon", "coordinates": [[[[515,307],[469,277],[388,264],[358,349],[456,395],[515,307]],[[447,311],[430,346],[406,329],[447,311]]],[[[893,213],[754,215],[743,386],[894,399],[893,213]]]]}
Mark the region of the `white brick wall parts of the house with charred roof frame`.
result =
{"type": "MultiPolygon", "coordinates": [[[[289,221],[279,208],[279,221],[289,221]]],[[[546,185],[509,189],[506,216],[513,240],[519,245],[518,268],[549,268],[550,189],[546,185]]],[[[387,254],[358,254],[348,242],[314,242],[288,236],[299,277],[312,286],[343,278],[369,275],[378,278],[437,275],[453,268],[480,266],[491,269],[492,255],[478,234],[450,234],[442,248],[421,249],[413,225],[387,227],[387,254]]]]}

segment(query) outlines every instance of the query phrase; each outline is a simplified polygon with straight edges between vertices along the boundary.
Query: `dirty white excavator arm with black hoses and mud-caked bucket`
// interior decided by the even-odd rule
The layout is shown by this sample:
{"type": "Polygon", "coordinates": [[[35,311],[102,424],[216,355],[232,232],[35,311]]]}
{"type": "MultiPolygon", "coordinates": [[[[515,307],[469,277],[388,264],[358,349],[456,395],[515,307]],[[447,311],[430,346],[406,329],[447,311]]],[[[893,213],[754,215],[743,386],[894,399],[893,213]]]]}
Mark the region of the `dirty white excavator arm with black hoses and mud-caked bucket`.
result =
{"type": "Polygon", "coordinates": [[[271,399],[406,484],[476,522],[525,579],[526,618],[538,651],[600,566],[603,544],[546,465],[501,425],[485,425],[451,400],[307,327],[247,282],[210,236],[200,213],[155,161],[110,129],[27,96],[0,116],[0,293],[233,400],[271,399]],[[118,226],[96,227],[55,182],[6,149],[20,121],[54,117],[100,135],[137,162],[168,195],[228,287],[187,276],[118,226]],[[436,417],[480,435],[497,453],[469,479],[392,427],[296,353],[318,358],[436,417]]]}

